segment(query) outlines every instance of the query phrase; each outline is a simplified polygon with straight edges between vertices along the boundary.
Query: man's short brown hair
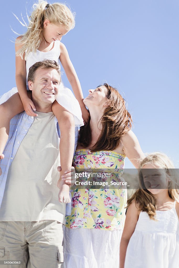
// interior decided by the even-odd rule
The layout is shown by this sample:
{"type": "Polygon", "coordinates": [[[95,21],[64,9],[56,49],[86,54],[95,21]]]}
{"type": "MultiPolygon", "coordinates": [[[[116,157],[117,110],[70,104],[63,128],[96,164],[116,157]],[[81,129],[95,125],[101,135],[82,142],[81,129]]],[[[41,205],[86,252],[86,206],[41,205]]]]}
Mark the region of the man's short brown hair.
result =
{"type": "Polygon", "coordinates": [[[35,72],[39,67],[42,67],[42,69],[55,69],[58,72],[59,76],[60,76],[60,82],[61,82],[60,66],[57,64],[56,61],[51,61],[50,59],[44,59],[43,61],[38,61],[38,62],[34,63],[29,68],[27,81],[34,82],[35,72]]]}

